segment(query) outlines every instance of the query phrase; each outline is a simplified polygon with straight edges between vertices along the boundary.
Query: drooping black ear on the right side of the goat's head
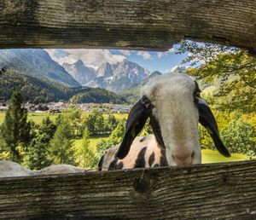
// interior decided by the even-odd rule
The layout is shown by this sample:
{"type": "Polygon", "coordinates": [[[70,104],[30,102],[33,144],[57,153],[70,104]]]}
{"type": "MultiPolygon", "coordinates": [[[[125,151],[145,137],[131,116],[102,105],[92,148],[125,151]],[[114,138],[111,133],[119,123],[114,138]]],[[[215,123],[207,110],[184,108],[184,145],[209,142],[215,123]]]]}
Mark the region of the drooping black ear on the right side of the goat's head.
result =
{"type": "Polygon", "coordinates": [[[199,122],[207,129],[208,133],[212,137],[215,147],[218,149],[218,152],[224,155],[224,157],[230,157],[230,152],[224,146],[224,143],[219,137],[216,120],[212,114],[210,107],[207,106],[207,102],[199,99],[198,110],[199,122]]]}

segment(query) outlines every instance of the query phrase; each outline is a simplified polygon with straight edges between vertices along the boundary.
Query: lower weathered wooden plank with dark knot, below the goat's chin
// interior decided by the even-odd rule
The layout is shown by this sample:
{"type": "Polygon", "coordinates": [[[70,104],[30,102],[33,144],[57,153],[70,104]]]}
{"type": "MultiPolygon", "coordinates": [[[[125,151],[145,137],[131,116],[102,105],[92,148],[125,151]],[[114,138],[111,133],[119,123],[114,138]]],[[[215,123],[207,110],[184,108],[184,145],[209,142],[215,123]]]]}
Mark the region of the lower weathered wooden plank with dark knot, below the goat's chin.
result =
{"type": "Polygon", "coordinates": [[[255,219],[256,160],[0,179],[0,218],[255,219]]]}

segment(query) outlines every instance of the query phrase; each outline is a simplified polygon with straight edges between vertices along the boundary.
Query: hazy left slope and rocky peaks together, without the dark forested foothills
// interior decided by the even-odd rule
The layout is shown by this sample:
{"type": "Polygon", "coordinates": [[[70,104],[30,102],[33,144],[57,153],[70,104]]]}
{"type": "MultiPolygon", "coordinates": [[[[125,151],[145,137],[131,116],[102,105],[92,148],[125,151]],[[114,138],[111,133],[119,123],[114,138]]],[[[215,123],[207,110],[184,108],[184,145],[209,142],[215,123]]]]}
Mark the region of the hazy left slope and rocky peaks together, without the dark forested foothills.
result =
{"type": "Polygon", "coordinates": [[[127,60],[106,62],[96,70],[81,60],[61,66],[44,49],[0,49],[0,69],[3,67],[70,87],[84,85],[114,92],[136,86],[150,75],[148,69],[127,60]]]}

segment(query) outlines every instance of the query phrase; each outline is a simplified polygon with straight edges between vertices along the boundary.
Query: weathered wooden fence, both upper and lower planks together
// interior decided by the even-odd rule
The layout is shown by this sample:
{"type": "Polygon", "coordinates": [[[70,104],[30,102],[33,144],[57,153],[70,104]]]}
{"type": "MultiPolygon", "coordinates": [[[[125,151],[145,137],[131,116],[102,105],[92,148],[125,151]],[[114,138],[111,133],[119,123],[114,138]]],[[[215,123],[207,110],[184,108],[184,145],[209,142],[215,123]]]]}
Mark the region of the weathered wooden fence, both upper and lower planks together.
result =
{"type": "MultiPolygon", "coordinates": [[[[0,0],[0,48],[256,50],[255,0],[0,0]]],[[[256,219],[256,161],[0,179],[6,219],[256,219]]]]}

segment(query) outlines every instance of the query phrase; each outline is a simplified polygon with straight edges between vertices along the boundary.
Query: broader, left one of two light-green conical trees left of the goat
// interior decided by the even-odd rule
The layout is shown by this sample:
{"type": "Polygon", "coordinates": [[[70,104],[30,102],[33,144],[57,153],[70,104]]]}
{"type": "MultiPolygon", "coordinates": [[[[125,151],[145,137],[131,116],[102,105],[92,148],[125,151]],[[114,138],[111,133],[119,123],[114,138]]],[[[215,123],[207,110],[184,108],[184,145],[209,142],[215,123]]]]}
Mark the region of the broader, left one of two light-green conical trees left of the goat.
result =
{"type": "Polygon", "coordinates": [[[72,164],[74,162],[73,134],[66,119],[61,119],[55,135],[50,142],[49,157],[54,164],[72,164]]]}

